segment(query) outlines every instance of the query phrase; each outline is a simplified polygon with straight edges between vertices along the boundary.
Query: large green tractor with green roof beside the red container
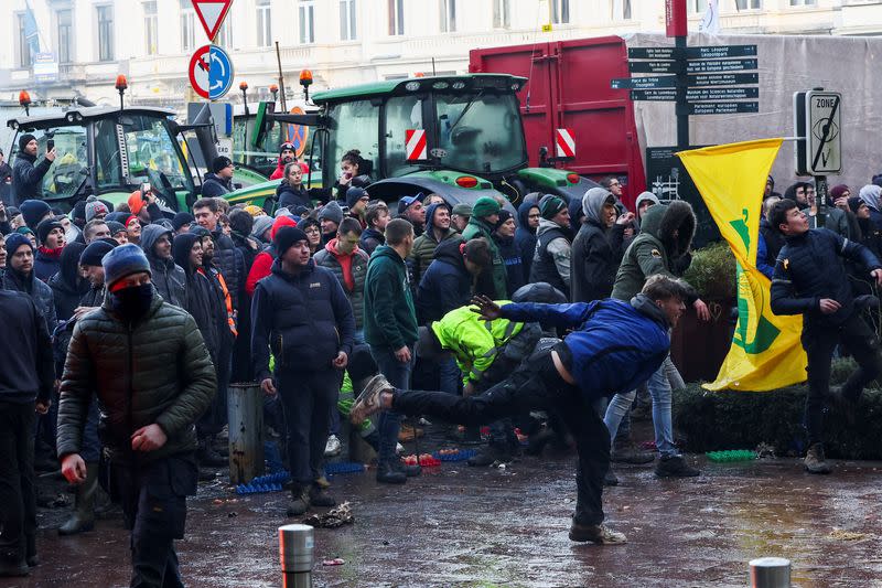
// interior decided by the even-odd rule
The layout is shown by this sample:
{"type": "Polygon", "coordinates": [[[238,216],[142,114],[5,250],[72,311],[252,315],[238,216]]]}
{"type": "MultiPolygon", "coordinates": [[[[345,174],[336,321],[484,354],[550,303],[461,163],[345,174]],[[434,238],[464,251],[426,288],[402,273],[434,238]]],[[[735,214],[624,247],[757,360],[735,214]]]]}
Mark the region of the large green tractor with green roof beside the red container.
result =
{"type": "MultiPolygon", "coordinates": [[[[313,127],[310,185],[333,185],[343,154],[370,162],[374,197],[395,202],[417,192],[450,204],[502,193],[517,204],[530,192],[581,199],[598,185],[573,172],[529,168],[516,93],[526,78],[505,74],[413,77],[316,93],[318,114],[269,118],[313,127]],[[409,159],[407,131],[423,131],[424,159],[409,159]]],[[[305,180],[304,180],[305,181],[305,180]]],[[[262,204],[278,181],[230,194],[262,204]]]]}

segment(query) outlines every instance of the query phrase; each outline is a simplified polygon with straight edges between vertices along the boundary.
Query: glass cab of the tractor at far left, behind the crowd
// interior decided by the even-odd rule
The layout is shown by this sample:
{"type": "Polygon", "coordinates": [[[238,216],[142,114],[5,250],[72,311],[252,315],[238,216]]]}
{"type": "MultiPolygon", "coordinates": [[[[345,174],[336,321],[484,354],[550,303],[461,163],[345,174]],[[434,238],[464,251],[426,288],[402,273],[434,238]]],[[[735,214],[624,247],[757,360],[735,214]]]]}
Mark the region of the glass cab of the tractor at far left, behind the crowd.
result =
{"type": "Polygon", "coordinates": [[[150,183],[162,207],[186,210],[197,189],[179,142],[183,127],[173,116],[165,108],[95,106],[11,118],[10,159],[22,133],[36,137],[37,158],[54,141],[56,158],[43,178],[44,200],[53,206],[69,210],[89,194],[116,204],[150,183]]]}

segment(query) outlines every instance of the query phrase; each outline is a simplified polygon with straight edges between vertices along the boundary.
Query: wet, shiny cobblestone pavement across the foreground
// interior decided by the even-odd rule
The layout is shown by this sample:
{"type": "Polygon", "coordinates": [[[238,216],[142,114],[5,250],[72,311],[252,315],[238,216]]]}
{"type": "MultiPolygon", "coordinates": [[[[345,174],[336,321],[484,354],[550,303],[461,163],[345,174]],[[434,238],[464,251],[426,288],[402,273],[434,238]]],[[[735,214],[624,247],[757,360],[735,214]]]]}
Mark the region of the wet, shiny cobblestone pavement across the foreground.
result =
{"type": "MultiPolygon", "coordinates": [[[[689,480],[658,480],[652,466],[619,466],[604,494],[624,546],[567,538],[576,488],[572,456],[523,458],[504,470],[464,462],[427,469],[404,487],[373,470],[334,477],[354,525],[315,531],[315,586],[743,587],[747,560],[783,556],[794,586],[882,586],[882,464],[838,463],[809,477],[795,459],[708,463],[689,480]],[[323,567],[340,557],[344,565],[323,567]]],[[[280,586],[277,528],[287,494],[237,496],[219,480],[190,501],[179,542],[187,586],[280,586]]],[[[0,586],[127,586],[128,534],[119,518],[58,537],[65,511],[41,511],[43,564],[0,586]],[[45,528],[49,527],[49,528],[45,528]]]]}

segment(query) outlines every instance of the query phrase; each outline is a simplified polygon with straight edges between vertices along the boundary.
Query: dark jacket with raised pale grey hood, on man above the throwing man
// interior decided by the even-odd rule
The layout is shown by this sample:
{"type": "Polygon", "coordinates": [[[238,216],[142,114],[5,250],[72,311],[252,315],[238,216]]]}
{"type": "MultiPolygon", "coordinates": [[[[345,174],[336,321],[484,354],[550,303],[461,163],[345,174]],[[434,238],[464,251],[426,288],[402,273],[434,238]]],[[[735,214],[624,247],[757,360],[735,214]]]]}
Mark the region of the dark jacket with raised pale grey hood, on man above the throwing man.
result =
{"type": "Polygon", "coordinates": [[[602,221],[607,202],[615,204],[615,196],[603,188],[592,188],[582,197],[585,217],[572,243],[570,265],[570,300],[573,302],[602,300],[613,290],[624,254],[625,225],[616,223],[610,228],[602,221]]]}

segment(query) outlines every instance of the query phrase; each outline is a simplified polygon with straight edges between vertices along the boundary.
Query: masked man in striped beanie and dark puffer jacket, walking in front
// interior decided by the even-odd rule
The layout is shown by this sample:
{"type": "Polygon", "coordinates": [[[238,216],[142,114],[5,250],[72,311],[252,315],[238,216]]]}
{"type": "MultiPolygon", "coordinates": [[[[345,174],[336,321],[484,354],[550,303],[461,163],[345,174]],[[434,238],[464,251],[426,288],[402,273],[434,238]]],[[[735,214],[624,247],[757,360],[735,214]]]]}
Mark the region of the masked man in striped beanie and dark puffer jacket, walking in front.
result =
{"type": "Polygon", "coordinates": [[[79,320],[58,406],[58,458],[72,483],[87,478],[83,428],[97,393],[101,430],[127,528],[132,586],[181,586],[174,539],[196,493],[195,423],[215,394],[214,366],[196,322],[164,302],[132,244],[105,255],[107,295],[79,320]]]}

